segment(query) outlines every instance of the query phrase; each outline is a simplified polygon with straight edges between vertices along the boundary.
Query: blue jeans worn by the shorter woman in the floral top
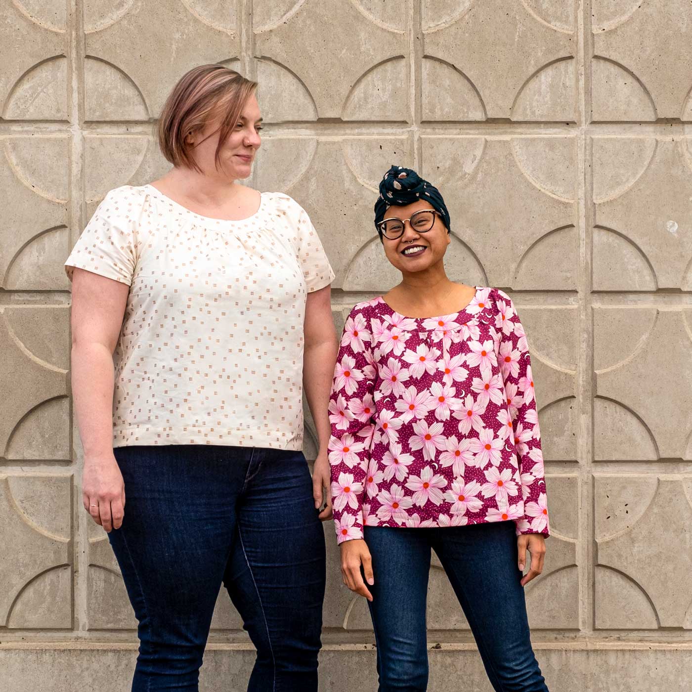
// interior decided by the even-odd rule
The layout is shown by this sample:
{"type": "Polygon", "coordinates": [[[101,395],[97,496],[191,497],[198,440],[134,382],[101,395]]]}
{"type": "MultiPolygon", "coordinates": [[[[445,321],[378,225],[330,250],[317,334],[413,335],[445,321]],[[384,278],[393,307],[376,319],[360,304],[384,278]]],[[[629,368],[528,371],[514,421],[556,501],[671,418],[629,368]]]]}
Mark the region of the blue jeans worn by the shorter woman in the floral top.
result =
{"type": "Polygon", "coordinates": [[[368,605],[380,692],[427,689],[431,548],[464,609],[493,689],[547,692],[531,648],[513,522],[444,529],[365,527],[365,543],[375,581],[368,587],[368,605]]]}

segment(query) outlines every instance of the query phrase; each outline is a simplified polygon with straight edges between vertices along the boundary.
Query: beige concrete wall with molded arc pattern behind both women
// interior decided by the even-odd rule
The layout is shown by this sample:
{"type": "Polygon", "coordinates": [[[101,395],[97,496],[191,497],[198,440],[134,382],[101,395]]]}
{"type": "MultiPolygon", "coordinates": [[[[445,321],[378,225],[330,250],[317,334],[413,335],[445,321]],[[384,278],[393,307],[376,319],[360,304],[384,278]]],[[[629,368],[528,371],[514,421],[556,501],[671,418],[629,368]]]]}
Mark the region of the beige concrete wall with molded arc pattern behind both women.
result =
{"type": "MultiPolygon", "coordinates": [[[[107,190],[166,169],[152,122],[203,62],[259,80],[252,184],[309,211],[338,328],[395,280],[371,225],[381,174],[441,187],[451,275],[509,291],[529,333],[547,679],[691,689],[689,0],[0,0],[0,688],[128,686],[134,617],[80,500],[62,263],[107,190]]],[[[367,610],[325,533],[322,689],[369,692],[367,610]]],[[[439,563],[429,605],[431,689],[489,690],[439,563]]],[[[224,599],[213,627],[203,689],[244,689],[224,599]]]]}

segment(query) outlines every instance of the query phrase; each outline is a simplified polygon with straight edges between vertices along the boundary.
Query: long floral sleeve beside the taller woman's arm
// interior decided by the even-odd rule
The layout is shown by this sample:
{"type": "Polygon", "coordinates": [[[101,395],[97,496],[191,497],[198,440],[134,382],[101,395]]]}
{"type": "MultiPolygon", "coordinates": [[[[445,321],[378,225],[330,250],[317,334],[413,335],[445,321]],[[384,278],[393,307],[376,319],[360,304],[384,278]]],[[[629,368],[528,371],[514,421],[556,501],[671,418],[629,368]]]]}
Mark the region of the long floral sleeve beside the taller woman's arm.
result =
{"type": "Polygon", "coordinates": [[[376,368],[370,325],[351,311],[341,337],[329,401],[331,501],[338,543],[363,538],[363,502],[374,432],[376,368]]]}

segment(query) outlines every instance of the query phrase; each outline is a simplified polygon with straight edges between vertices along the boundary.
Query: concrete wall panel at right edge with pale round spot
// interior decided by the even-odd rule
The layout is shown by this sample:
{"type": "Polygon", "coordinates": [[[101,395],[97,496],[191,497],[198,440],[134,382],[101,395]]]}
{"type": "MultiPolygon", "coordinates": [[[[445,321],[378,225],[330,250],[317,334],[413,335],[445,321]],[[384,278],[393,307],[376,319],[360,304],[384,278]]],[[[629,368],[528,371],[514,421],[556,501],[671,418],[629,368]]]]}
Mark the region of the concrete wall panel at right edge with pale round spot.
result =
{"type": "Polygon", "coordinates": [[[594,288],[689,289],[691,140],[595,138],[593,146],[594,288]]]}

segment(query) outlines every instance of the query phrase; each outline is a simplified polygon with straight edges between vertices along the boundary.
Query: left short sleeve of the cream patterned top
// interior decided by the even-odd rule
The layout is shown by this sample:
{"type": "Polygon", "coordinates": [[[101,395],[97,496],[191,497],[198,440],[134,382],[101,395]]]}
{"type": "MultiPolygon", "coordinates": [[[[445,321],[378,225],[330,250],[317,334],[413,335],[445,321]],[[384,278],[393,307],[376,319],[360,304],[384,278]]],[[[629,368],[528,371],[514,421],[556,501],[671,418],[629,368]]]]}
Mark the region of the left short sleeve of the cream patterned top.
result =
{"type": "Polygon", "coordinates": [[[77,267],[131,285],[141,201],[128,189],[111,190],[96,208],[65,262],[70,281],[77,267]]]}

